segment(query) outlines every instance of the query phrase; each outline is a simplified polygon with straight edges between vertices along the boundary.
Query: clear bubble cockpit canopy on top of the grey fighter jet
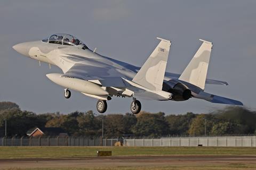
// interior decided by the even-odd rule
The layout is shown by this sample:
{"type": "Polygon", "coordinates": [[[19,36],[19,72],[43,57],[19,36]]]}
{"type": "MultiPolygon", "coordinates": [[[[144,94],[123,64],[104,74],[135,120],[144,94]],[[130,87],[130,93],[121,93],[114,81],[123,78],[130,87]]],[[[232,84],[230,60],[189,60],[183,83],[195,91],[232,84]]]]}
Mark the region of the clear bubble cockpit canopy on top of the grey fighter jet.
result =
{"type": "Polygon", "coordinates": [[[83,49],[88,48],[83,42],[74,36],[66,33],[55,33],[47,39],[42,40],[45,43],[60,44],[67,46],[83,46],[83,49]]]}

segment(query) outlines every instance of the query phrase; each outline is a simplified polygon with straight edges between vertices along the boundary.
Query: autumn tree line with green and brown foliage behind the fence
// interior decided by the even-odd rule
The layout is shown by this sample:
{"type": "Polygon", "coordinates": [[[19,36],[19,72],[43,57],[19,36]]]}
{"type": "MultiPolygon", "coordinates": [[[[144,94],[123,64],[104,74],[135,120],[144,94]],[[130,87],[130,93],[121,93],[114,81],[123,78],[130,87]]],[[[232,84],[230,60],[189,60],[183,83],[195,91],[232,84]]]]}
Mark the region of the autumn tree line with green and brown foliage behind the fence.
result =
{"type": "Polygon", "coordinates": [[[137,115],[95,114],[92,111],[36,114],[21,111],[15,103],[0,102],[0,130],[4,129],[4,120],[7,120],[8,136],[23,136],[36,127],[62,128],[75,136],[101,136],[102,119],[105,137],[198,136],[205,132],[206,135],[256,134],[256,112],[245,107],[179,115],[143,111],[137,115]]]}

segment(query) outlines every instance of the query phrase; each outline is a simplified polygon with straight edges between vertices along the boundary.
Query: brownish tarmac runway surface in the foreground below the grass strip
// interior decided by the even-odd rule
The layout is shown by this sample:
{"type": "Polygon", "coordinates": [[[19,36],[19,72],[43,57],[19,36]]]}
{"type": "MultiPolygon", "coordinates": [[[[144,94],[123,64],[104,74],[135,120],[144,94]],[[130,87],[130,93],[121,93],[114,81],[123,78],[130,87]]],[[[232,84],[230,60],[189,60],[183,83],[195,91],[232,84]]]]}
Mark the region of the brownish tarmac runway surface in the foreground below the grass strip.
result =
{"type": "Polygon", "coordinates": [[[0,159],[0,169],[54,167],[117,167],[117,166],[186,166],[256,164],[256,156],[110,156],[83,158],[15,158],[0,159]]]}

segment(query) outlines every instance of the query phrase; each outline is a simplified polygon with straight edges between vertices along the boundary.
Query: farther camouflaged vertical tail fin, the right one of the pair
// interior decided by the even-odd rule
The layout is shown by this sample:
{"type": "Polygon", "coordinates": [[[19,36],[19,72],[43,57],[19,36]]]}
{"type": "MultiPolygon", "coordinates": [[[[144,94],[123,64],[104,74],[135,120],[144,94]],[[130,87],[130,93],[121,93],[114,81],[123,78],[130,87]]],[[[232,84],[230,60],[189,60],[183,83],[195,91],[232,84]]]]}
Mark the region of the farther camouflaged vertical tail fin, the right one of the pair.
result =
{"type": "Polygon", "coordinates": [[[202,39],[199,40],[203,41],[203,44],[180,75],[179,80],[189,82],[204,90],[212,43],[202,39]]]}

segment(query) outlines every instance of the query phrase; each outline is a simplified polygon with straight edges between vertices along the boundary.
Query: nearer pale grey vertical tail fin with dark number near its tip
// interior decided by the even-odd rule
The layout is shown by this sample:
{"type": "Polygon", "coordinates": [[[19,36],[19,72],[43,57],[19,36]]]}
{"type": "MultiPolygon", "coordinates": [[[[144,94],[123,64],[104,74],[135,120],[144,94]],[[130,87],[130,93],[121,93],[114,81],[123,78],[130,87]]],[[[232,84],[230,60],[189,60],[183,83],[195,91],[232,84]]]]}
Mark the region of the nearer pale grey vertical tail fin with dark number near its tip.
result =
{"type": "Polygon", "coordinates": [[[171,41],[162,38],[148,60],[133,78],[133,82],[150,90],[162,90],[171,41]]]}

